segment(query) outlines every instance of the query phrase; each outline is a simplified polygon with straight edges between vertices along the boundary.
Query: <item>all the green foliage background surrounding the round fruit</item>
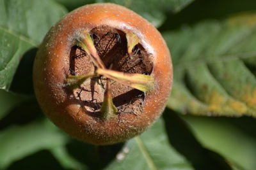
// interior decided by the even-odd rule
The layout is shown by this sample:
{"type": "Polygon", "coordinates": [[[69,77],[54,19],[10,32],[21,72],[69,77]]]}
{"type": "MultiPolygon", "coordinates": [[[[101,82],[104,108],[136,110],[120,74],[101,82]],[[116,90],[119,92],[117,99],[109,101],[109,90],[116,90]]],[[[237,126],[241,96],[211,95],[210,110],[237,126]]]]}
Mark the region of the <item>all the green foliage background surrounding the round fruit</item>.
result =
{"type": "Polygon", "coordinates": [[[254,170],[256,120],[241,117],[256,112],[254,10],[253,0],[0,0],[0,169],[254,170]],[[68,11],[99,2],[127,6],[156,25],[175,71],[163,118],[141,136],[111,146],[81,143],[55,127],[36,103],[31,78],[37,46],[49,28],[68,11]],[[228,61],[212,64],[223,56],[228,61]],[[211,63],[193,64],[205,59],[211,63]],[[223,72],[232,75],[228,81],[223,72]],[[244,90],[246,85],[252,89],[244,90]],[[212,90],[224,101],[212,101],[212,90]],[[236,113],[228,101],[239,103],[236,113]],[[209,117],[214,115],[236,117],[209,117]]]}

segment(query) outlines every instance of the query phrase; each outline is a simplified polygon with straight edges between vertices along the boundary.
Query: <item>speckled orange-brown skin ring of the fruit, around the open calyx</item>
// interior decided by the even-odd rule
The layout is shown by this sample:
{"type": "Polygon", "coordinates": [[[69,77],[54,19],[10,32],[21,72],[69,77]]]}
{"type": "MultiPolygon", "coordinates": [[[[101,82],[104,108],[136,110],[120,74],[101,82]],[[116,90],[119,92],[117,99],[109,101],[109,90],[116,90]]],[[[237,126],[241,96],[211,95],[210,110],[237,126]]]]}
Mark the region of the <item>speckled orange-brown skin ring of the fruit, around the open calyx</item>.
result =
{"type": "Polygon", "coordinates": [[[94,145],[120,143],[152,125],[166,106],[172,75],[170,52],[157,29],[133,11],[111,3],[82,6],[65,15],[45,36],[33,66],[36,99],[47,117],[70,136],[94,145]],[[134,32],[152,53],[154,89],[145,95],[140,115],[120,113],[107,121],[97,120],[80,108],[83,101],[68,96],[64,83],[74,36],[100,25],[134,32]]]}

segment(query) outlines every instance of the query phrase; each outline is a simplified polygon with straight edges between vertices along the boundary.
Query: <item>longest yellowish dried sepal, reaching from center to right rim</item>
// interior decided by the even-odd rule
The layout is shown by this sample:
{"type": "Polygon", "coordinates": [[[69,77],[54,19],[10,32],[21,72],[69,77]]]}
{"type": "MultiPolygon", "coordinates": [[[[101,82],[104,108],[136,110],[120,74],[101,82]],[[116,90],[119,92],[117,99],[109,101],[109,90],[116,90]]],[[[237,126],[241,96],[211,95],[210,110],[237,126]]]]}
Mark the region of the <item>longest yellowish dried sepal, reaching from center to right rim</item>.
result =
{"type": "Polygon", "coordinates": [[[151,75],[123,73],[120,71],[100,68],[97,69],[96,73],[143,92],[149,91],[154,86],[154,78],[151,75]]]}

